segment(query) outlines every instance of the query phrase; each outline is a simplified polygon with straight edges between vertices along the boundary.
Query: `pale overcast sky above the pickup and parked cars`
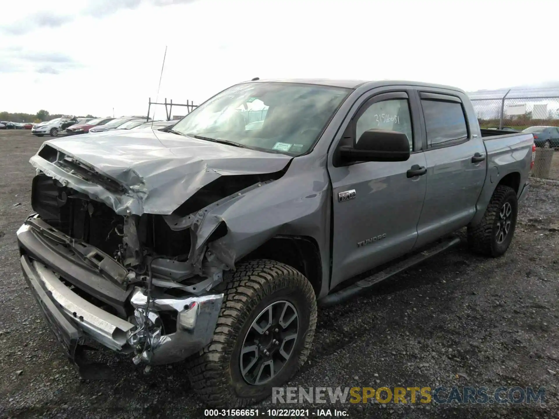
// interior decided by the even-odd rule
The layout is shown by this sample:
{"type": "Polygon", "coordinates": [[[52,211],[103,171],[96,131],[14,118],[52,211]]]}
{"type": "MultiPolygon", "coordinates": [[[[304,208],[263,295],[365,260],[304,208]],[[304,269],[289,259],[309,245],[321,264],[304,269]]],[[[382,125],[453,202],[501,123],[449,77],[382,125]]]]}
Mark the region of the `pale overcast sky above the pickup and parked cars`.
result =
{"type": "Polygon", "coordinates": [[[537,84],[559,79],[558,19],[556,0],[12,1],[0,111],[145,115],[253,77],[537,84]]]}

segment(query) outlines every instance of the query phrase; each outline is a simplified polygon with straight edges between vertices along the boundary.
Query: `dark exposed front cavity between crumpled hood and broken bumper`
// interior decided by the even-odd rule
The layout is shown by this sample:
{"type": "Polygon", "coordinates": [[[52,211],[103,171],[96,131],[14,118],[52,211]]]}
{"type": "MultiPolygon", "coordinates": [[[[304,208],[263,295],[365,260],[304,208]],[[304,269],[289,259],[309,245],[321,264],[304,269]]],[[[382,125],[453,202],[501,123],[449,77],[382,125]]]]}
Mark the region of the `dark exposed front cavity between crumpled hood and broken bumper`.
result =
{"type": "MultiPolygon", "coordinates": [[[[160,283],[163,287],[184,289],[193,294],[203,291],[187,285],[200,282],[200,276],[196,278],[196,274],[209,272],[207,263],[196,269],[187,262],[191,250],[191,236],[184,231],[187,228],[172,230],[163,216],[116,215],[104,203],[44,174],[34,178],[32,207],[41,220],[73,239],[97,247],[136,273],[136,278],[148,274],[148,261],[151,260],[156,285],[160,283]]],[[[225,229],[216,230],[209,241],[225,232],[225,229]]],[[[134,282],[130,277],[128,280],[128,283],[134,282]]],[[[216,280],[219,282],[219,275],[216,280]]]]}

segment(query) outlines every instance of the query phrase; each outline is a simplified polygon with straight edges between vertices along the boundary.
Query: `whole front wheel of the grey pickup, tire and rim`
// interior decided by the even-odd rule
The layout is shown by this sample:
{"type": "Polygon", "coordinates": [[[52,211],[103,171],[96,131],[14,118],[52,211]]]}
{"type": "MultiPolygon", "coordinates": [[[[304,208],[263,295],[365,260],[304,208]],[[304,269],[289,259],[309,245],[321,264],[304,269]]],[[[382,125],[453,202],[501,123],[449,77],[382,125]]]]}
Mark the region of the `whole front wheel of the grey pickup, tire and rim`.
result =
{"type": "Polygon", "coordinates": [[[211,407],[245,407],[285,384],[309,356],[316,298],[309,280],[274,260],[241,264],[226,284],[214,338],[189,360],[211,407]]]}

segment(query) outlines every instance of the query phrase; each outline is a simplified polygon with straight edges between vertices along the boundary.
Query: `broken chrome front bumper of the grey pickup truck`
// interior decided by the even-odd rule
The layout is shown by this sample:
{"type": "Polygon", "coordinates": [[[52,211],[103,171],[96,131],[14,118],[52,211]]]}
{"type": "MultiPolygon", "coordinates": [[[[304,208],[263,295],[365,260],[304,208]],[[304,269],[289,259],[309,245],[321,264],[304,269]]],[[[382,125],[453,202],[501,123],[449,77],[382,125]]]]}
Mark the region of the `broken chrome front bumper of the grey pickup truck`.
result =
{"type": "MultiPolygon", "coordinates": [[[[54,228],[50,233],[64,236],[54,228]]],[[[50,240],[32,222],[23,224],[17,237],[27,284],[76,364],[86,336],[119,353],[135,353],[135,363],[150,365],[184,360],[211,341],[223,294],[174,297],[157,288],[151,290],[148,304],[146,288],[119,288],[106,278],[103,266],[79,263],[75,249],[50,240]],[[163,315],[176,319],[170,333],[165,332],[169,327],[163,325],[163,315]]]]}

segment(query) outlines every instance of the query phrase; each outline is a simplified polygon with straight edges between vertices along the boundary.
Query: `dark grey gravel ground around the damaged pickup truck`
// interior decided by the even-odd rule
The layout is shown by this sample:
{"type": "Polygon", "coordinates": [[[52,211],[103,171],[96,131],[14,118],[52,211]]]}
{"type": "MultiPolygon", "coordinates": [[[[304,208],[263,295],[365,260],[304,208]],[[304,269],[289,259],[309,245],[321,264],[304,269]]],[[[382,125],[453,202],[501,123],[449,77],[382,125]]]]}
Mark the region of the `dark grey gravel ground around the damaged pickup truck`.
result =
{"type": "MultiPolygon", "coordinates": [[[[28,160],[42,141],[29,131],[0,132],[0,418],[204,417],[182,364],[144,375],[130,359],[100,351],[92,359],[109,363],[116,379],[87,382],[59,350],[22,278],[15,237],[31,210],[28,160]]],[[[288,385],[531,385],[546,387],[546,405],[337,408],[349,417],[559,417],[559,183],[531,183],[503,257],[457,247],[353,302],[320,310],[314,351],[288,385]]]]}

